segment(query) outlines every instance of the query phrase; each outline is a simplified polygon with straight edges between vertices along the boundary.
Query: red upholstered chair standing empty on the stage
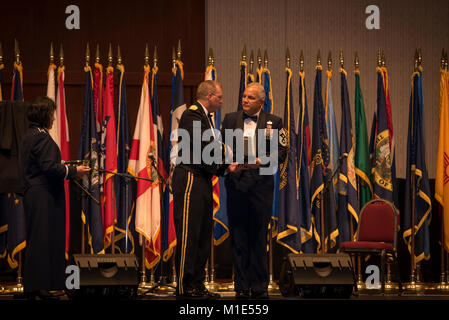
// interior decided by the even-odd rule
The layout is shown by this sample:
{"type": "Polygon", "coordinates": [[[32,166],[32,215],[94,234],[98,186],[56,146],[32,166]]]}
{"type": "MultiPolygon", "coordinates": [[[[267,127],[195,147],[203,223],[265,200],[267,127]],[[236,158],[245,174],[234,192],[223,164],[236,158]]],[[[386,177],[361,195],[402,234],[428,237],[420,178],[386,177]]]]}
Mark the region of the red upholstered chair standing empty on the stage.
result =
{"type": "Polygon", "coordinates": [[[398,212],[395,206],[384,199],[374,199],[365,204],[360,212],[356,241],[341,243],[340,251],[352,255],[380,255],[380,277],[382,294],[385,294],[385,266],[387,254],[399,276],[399,294],[402,284],[397,259],[398,212]]]}

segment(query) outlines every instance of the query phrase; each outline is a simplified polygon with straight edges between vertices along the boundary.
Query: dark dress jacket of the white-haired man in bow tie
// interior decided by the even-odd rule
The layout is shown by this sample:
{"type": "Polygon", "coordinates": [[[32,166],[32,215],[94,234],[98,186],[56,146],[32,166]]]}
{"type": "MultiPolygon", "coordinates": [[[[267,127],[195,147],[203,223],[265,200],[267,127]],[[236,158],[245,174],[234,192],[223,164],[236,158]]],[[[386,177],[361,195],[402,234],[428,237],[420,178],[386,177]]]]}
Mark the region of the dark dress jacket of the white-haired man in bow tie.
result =
{"type": "MultiPolygon", "coordinates": [[[[259,117],[257,119],[257,126],[256,126],[256,152],[257,150],[257,130],[259,129],[267,129],[267,124],[271,121],[271,128],[277,129],[278,132],[280,132],[283,129],[282,119],[265,112],[263,109],[259,113],[259,117]]],[[[226,141],[226,129],[242,129],[244,128],[244,121],[243,121],[243,111],[237,111],[226,114],[225,118],[223,119],[222,125],[221,125],[221,133],[222,138],[225,144],[230,145],[230,141],[226,141]]],[[[280,139],[279,139],[280,140],[280,139]]],[[[267,143],[267,148],[269,148],[269,143],[267,143]]],[[[236,139],[234,138],[233,141],[233,153],[234,153],[234,160],[236,157],[236,139]]],[[[242,152],[242,150],[239,150],[239,152],[242,152]]],[[[271,150],[268,150],[267,154],[269,154],[271,150]]],[[[288,152],[288,146],[283,146],[281,143],[278,144],[278,164],[283,162],[285,160],[285,157],[287,156],[288,152]]],[[[258,154],[258,153],[256,153],[258,154]]],[[[226,175],[227,180],[227,186],[230,186],[233,189],[239,190],[239,191],[246,191],[247,188],[249,188],[251,185],[255,185],[257,183],[272,183],[273,176],[272,175],[260,175],[259,169],[251,169],[251,170],[242,170],[237,173],[229,173],[226,175]]]]}

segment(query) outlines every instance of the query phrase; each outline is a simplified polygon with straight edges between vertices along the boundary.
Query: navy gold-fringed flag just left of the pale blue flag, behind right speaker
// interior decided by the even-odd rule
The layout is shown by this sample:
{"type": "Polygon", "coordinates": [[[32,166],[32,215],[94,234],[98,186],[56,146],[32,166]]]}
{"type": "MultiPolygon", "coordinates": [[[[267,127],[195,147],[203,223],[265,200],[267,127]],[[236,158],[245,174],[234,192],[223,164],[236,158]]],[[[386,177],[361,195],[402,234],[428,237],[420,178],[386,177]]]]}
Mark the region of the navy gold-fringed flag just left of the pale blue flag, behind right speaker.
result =
{"type": "Polygon", "coordinates": [[[335,198],[332,172],[329,169],[330,154],[323,97],[321,90],[321,65],[316,67],[315,92],[313,101],[313,136],[312,136],[312,162],[311,162],[311,211],[314,239],[317,252],[327,252],[336,248],[338,228],[335,214],[335,198]],[[325,185],[327,186],[324,190],[325,185]],[[321,193],[324,192],[324,203],[321,201],[321,193]],[[321,206],[324,205],[324,221],[321,219],[321,206]],[[323,230],[322,230],[323,225],[323,230]],[[324,232],[324,241],[321,243],[321,232],[324,232]]]}

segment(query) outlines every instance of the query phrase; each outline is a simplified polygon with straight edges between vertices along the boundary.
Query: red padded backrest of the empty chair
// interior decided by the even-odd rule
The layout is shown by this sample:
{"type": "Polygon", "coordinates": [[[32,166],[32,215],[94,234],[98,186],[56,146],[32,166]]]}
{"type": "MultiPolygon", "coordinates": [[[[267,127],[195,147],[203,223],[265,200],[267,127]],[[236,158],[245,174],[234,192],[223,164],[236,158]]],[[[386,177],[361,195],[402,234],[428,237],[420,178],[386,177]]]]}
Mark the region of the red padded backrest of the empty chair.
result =
{"type": "Polygon", "coordinates": [[[398,213],[394,205],[384,199],[374,199],[360,212],[358,241],[389,242],[396,249],[398,213]]]}

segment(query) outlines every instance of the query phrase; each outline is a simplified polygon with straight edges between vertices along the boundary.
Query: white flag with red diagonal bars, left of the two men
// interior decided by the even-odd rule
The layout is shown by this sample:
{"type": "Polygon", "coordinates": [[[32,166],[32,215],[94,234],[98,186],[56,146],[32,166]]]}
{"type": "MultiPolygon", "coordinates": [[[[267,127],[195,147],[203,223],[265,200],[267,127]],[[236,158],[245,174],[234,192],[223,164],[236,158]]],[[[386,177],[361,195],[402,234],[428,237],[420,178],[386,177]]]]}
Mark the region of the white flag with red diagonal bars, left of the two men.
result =
{"type": "Polygon", "coordinates": [[[150,156],[157,159],[157,142],[149,95],[148,66],[144,67],[144,79],[137,114],[136,129],[129,155],[128,172],[137,180],[136,231],[145,237],[145,265],[153,268],[161,255],[161,202],[157,172],[151,166],[150,156]]]}

